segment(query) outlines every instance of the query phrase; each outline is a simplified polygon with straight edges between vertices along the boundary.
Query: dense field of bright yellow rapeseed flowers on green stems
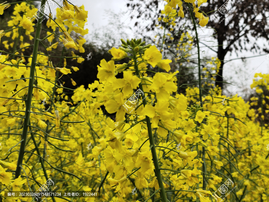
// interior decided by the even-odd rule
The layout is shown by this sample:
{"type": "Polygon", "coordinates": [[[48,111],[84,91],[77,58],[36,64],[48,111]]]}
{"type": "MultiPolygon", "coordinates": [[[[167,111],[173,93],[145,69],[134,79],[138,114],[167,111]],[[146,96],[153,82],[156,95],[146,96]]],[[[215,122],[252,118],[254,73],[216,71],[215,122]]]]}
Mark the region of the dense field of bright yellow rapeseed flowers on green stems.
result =
{"type": "Polygon", "coordinates": [[[213,84],[220,62],[201,66],[197,33],[206,0],[164,1],[164,22],[194,27],[181,48],[198,53],[198,80],[184,93],[181,61],[142,39],[121,39],[98,79],[76,86],[88,11],[40,2],[0,4],[13,10],[0,31],[0,201],[269,201],[269,74],[255,74],[250,101],[213,84]]]}

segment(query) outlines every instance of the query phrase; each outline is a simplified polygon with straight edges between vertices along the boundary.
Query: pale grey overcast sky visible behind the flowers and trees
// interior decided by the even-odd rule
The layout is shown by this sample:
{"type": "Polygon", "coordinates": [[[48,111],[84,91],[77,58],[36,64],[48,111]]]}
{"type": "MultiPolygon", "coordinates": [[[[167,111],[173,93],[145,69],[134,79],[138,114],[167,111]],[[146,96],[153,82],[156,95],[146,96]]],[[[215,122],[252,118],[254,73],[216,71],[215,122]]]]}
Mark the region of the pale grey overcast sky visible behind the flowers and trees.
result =
{"type": "MultiPolygon", "coordinates": [[[[88,10],[88,25],[86,28],[89,29],[89,34],[86,36],[87,39],[91,40],[94,32],[99,32],[102,34],[103,32],[111,33],[111,36],[116,39],[117,41],[120,41],[121,35],[123,32],[126,32],[126,37],[128,38],[134,38],[136,37],[136,30],[131,30],[134,22],[130,21],[130,15],[132,15],[132,10],[128,10],[126,6],[126,1],[124,0],[99,0],[99,1],[93,1],[93,0],[77,0],[72,1],[72,3],[75,2],[77,5],[84,4],[85,10],[88,10]],[[87,2],[87,3],[85,3],[87,2]],[[106,11],[111,10],[113,13],[116,13],[119,17],[119,19],[116,19],[115,16],[111,17],[106,11]],[[115,25],[111,25],[112,23],[115,23],[115,25]],[[130,28],[129,28],[130,27],[130,28]]],[[[146,23],[146,21],[141,20],[141,23],[146,23]]],[[[203,37],[204,35],[207,35],[207,32],[200,31],[201,35],[200,37],[203,37]]],[[[125,38],[126,39],[126,38],[125,38]]],[[[208,40],[210,41],[210,40],[208,40]]],[[[253,39],[253,42],[255,39],[253,39]]],[[[263,46],[263,41],[260,40],[256,42],[260,47],[263,46]]],[[[207,45],[216,45],[214,43],[208,42],[207,45]]],[[[268,46],[267,46],[268,47],[268,46]]],[[[208,48],[202,48],[201,57],[203,56],[216,56],[214,52],[211,52],[208,48]]],[[[243,52],[238,53],[239,57],[252,57],[255,55],[258,55],[258,53],[251,53],[251,52],[243,52]]],[[[232,53],[226,55],[225,60],[231,60],[238,58],[235,53],[232,53]]],[[[247,88],[248,93],[251,92],[250,90],[250,84],[252,83],[252,80],[254,78],[255,73],[269,73],[269,60],[266,59],[266,55],[259,56],[259,57],[253,57],[246,59],[246,62],[243,63],[242,60],[232,60],[224,65],[224,78],[228,79],[231,83],[233,83],[235,86],[230,85],[227,90],[228,93],[239,93],[240,96],[244,95],[242,94],[242,89],[247,88]],[[236,73],[237,72],[237,73],[236,73]]],[[[229,96],[229,95],[227,95],[229,96]]]]}

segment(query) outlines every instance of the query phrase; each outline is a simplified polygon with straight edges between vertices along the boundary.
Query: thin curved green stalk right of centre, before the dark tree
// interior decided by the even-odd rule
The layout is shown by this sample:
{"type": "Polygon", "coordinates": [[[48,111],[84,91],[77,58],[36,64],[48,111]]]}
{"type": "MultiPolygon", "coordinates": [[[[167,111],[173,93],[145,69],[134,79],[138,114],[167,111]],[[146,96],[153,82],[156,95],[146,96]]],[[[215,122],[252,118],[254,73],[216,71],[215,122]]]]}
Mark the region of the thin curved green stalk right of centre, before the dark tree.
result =
{"type": "MultiPolygon", "coordinates": [[[[202,84],[201,84],[201,59],[200,59],[200,46],[199,46],[199,38],[198,38],[198,33],[197,33],[197,28],[196,28],[196,23],[194,20],[194,16],[191,10],[191,7],[188,3],[188,7],[189,7],[189,13],[190,16],[192,18],[192,23],[193,23],[193,27],[195,30],[195,37],[196,37],[196,43],[197,43],[197,50],[198,50],[198,77],[199,77],[199,100],[200,100],[200,106],[203,107],[203,101],[202,101],[202,84]]],[[[206,189],[206,165],[205,165],[205,148],[202,148],[202,157],[203,157],[203,165],[202,165],[202,173],[203,173],[203,189],[206,189]]]]}

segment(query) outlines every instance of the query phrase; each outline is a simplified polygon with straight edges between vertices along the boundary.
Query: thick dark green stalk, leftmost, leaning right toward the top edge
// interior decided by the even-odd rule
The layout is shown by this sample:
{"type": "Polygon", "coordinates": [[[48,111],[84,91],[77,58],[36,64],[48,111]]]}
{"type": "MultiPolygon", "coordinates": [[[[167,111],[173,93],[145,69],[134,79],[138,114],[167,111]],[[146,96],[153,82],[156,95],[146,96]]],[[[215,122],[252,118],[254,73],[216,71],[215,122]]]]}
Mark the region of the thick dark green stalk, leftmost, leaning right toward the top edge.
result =
{"type": "Polygon", "coordinates": [[[41,9],[41,12],[39,12],[39,18],[37,20],[37,25],[36,25],[36,35],[35,35],[35,40],[34,40],[32,63],[31,63],[31,68],[30,68],[30,79],[29,79],[29,87],[28,87],[28,92],[27,92],[25,119],[24,119],[24,124],[23,124],[23,129],[22,129],[22,139],[24,141],[21,143],[21,146],[20,146],[17,168],[15,172],[15,178],[18,178],[22,171],[21,166],[22,166],[23,157],[25,153],[28,124],[30,121],[31,104],[32,104],[32,96],[33,96],[33,83],[35,79],[36,59],[37,59],[37,53],[38,53],[37,51],[38,51],[39,37],[40,37],[40,32],[41,32],[41,23],[39,22],[41,22],[42,20],[42,16],[43,16],[42,12],[44,10],[43,5],[45,4],[45,2],[46,0],[41,1],[42,9],[41,9]]]}

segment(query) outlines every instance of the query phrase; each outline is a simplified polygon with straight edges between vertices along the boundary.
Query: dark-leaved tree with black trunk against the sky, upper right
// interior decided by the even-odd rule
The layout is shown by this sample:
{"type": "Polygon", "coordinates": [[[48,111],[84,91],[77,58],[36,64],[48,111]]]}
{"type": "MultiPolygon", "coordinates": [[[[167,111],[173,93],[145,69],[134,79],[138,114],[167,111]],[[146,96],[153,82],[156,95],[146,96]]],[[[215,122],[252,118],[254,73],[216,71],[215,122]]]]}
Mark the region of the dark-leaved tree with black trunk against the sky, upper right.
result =
{"type": "MultiPolygon", "coordinates": [[[[163,0],[139,0],[135,3],[133,0],[129,0],[127,2],[127,7],[131,7],[137,11],[137,19],[152,19],[152,23],[146,26],[146,30],[156,31],[156,24],[158,21],[156,22],[155,19],[162,16],[161,10],[163,10],[163,2],[163,0]]],[[[184,10],[187,9],[185,6],[186,3],[183,2],[184,10]]],[[[231,0],[210,0],[205,4],[202,4],[200,10],[204,12],[204,15],[209,17],[207,27],[214,28],[216,32],[216,34],[213,34],[213,37],[217,41],[217,50],[210,47],[209,48],[214,50],[218,56],[218,59],[221,60],[221,66],[216,77],[215,85],[218,85],[221,87],[221,89],[223,89],[223,67],[225,64],[224,58],[227,53],[231,53],[234,50],[240,52],[242,52],[242,50],[250,50],[252,52],[259,51],[259,54],[261,54],[261,51],[269,53],[268,48],[262,48],[253,42],[253,38],[255,40],[265,39],[265,43],[268,44],[269,1],[239,0],[232,2],[231,0]],[[249,45],[251,46],[249,47],[249,45]]],[[[179,8],[177,11],[179,11],[179,8]]],[[[185,16],[188,15],[187,12],[184,12],[184,14],[185,16]]],[[[177,42],[178,38],[180,37],[178,36],[178,34],[180,34],[178,32],[183,29],[182,25],[186,23],[184,27],[189,27],[188,25],[190,24],[191,19],[182,19],[178,17],[176,18],[176,21],[179,22],[175,23],[177,27],[174,29],[171,29],[172,25],[169,25],[166,22],[159,22],[161,26],[165,27],[165,29],[168,30],[172,36],[174,36],[173,40],[164,39],[165,43],[172,44],[177,42]],[[185,19],[189,20],[186,22],[185,19]]],[[[138,22],[135,23],[135,25],[139,26],[138,22]]],[[[140,28],[140,30],[142,31],[144,29],[140,28]]],[[[173,47],[171,46],[169,51],[172,49],[173,47]]]]}

